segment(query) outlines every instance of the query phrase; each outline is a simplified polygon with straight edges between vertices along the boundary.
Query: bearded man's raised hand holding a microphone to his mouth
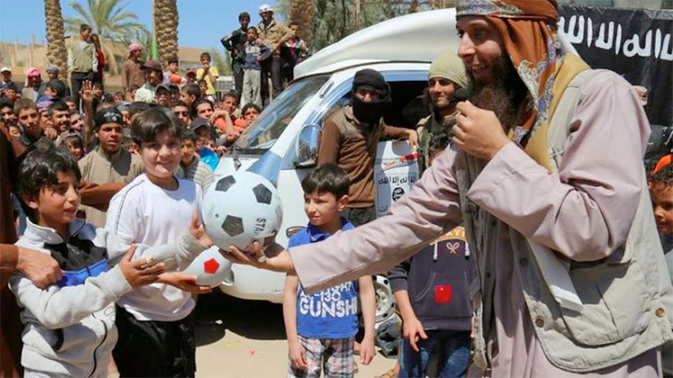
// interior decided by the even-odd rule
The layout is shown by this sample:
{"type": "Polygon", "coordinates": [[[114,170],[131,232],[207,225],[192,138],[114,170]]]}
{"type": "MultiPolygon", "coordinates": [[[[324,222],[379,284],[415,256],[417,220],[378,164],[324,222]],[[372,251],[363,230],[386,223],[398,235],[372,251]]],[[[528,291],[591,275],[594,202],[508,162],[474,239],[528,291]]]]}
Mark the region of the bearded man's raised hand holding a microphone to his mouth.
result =
{"type": "Polygon", "coordinates": [[[501,148],[510,142],[505,135],[496,113],[479,109],[471,102],[458,102],[454,141],[458,148],[475,158],[491,160],[501,148]]]}

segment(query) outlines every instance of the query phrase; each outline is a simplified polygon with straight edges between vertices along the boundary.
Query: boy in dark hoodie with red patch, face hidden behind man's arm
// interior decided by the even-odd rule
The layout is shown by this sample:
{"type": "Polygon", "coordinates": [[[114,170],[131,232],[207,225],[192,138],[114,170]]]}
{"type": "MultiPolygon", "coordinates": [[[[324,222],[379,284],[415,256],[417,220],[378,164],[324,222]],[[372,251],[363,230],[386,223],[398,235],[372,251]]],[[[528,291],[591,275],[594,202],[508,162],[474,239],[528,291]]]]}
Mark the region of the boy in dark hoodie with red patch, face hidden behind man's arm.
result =
{"type": "MultiPolygon", "coordinates": [[[[450,141],[448,132],[433,135],[428,167],[450,141]]],[[[431,377],[465,377],[472,326],[468,286],[475,277],[467,248],[465,229],[458,226],[388,272],[402,316],[399,377],[426,377],[436,351],[439,365],[431,377]]]]}

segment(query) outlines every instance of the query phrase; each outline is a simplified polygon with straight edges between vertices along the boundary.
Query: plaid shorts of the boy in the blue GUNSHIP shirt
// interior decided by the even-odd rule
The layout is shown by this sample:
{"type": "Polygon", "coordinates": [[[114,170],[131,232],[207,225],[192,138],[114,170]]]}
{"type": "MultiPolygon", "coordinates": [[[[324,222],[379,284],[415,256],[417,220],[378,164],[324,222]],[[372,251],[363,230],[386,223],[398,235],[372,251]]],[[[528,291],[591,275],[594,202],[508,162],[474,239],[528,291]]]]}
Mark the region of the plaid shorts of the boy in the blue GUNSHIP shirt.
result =
{"type": "Polygon", "coordinates": [[[288,360],[287,377],[308,378],[320,377],[320,370],[325,370],[325,378],[347,378],[355,374],[353,360],[353,344],[355,337],[347,339],[309,339],[299,335],[299,344],[306,350],[306,370],[297,370],[288,360]]]}

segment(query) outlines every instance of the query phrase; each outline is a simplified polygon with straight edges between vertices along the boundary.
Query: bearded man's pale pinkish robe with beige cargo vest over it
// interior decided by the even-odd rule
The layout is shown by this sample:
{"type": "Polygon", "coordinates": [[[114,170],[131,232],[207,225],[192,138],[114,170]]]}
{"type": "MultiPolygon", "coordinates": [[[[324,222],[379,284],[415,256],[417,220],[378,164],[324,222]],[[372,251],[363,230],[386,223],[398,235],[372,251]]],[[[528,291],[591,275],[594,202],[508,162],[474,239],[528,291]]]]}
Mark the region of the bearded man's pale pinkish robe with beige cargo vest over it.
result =
{"type": "Polygon", "coordinates": [[[663,344],[672,337],[673,288],[642,165],[647,118],[630,85],[609,71],[583,87],[568,118],[570,133],[550,132],[548,140],[558,172],[550,174],[514,143],[476,165],[472,159],[465,165],[449,148],[388,215],[293,248],[306,292],[385,272],[465,218],[474,225],[468,237],[480,273],[477,362],[489,363],[495,354],[508,366],[530,367],[526,374],[508,367],[502,376],[535,376],[530,372],[552,371],[548,367],[599,371],[628,365],[663,344]],[[568,262],[585,304],[581,314],[560,309],[551,297],[527,239],[568,262]],[[515,281],[519,291],[498,292],[496,281],[515,281]],[[517,298],[522,307],[512,308],[517,298]],[[534,329],[518,332],[508,314],[522,316],[524,330],[534,329]],[[508,340],[515,335],[525,342],[508,340]],[[499,352],[487,353],[487,341],[496,338],[499,352]]]}

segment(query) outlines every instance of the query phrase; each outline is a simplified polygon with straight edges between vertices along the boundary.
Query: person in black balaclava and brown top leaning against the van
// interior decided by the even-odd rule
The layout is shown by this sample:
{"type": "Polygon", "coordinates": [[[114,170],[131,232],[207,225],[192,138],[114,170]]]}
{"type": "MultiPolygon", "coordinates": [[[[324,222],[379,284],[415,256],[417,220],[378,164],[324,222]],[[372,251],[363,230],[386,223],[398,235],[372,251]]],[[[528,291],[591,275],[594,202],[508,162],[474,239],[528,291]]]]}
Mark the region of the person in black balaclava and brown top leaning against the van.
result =
{"type": "Polygon", "coordinates": [[[362,69],[353,78],[351,105],[334,113],[322,126],[318,165],[333,163],[351,179],[349,202],[343,215],[355,227],[374,221],[374,160],[376,146],[383,139],[409,139],[412,148],[418,136],[414,130],[383,123],[390,103],[390,87],[379,71],[362,69]]]}

